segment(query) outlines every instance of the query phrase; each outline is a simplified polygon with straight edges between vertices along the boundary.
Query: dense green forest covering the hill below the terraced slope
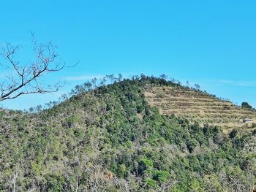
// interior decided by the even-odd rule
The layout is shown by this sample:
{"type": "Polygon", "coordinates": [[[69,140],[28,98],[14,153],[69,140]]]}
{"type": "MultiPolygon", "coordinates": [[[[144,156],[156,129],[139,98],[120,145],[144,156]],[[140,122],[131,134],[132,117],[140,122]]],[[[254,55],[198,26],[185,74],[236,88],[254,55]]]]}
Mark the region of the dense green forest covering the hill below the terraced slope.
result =
{"type": "Polygon", "coordinates": [[[162,85],[181,86],[87,82],[48,110],[1,110],[0,191],[252,191],[255,129],[160,115],[144,91],[162,85]]]}

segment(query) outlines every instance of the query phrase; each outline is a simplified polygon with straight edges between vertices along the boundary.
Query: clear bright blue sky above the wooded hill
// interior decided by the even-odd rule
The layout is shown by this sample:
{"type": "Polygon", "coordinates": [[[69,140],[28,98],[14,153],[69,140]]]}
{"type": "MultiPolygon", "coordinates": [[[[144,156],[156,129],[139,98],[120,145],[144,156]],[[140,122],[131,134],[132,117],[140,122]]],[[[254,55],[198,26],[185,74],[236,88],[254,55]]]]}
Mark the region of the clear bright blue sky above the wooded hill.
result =
{"type": "MultiPolygon", "coordinates": [[[[34,31],[39,41],[59,45],[67,64],[80,62],[45,77],[68,77],[58,94],[24,96],[4,107],[44,104],[86,78],[119,72],[165,73],[256,107],[256,1],[16,0],[0,6],[0,42],[26,49],[34,31]]],[[[20,59],[29,61],[25,53],[20,59]]]]}

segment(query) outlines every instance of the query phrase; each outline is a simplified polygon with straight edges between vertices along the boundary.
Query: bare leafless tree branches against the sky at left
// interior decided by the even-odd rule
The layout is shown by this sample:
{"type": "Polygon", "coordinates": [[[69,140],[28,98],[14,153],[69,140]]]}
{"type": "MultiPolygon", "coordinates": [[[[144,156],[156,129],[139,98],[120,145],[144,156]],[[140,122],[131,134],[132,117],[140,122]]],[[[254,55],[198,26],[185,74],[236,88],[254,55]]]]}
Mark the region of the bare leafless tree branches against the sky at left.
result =
{"type": "Polygon", "coordinates": [[[57,61],[59,58],[56,53],[57,47],[51,42],[37,42],[34,39],[34,34],[32,34],[31,42],[35,58],[30,64],[22,64],[16,59],[20,46],[6,43],[0,47],[0,57],[4,61],[4,63],[0,63],[0,70],[8,73],[4,75],[4,81],[0,82],[0,101],[15,99],[18,96],[31,93],[52,93],[58,91],[62,86],[61,82],[52,85],[41,80],[43,75],[59,72],[67,67],[64,63],[57,61]]]}

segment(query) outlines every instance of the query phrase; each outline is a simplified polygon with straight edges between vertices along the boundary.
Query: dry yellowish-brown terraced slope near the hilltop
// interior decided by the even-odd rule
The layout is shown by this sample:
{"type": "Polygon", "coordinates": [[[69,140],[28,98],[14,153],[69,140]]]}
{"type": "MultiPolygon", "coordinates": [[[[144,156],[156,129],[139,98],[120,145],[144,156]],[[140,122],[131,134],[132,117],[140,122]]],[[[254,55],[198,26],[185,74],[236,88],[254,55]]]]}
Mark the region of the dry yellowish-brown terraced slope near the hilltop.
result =
{"type": "Polygon", "coordinates": [[[158,107],[163,115],[176,115],[188,118],[200,125],[251,127],[252,123],[243,123],[243,118],[256,122],[256,112],[246,110],[230,101],[218,99],[208,93],[185,87],[157,86],[146,88],[149,104],[158,107]]]}

